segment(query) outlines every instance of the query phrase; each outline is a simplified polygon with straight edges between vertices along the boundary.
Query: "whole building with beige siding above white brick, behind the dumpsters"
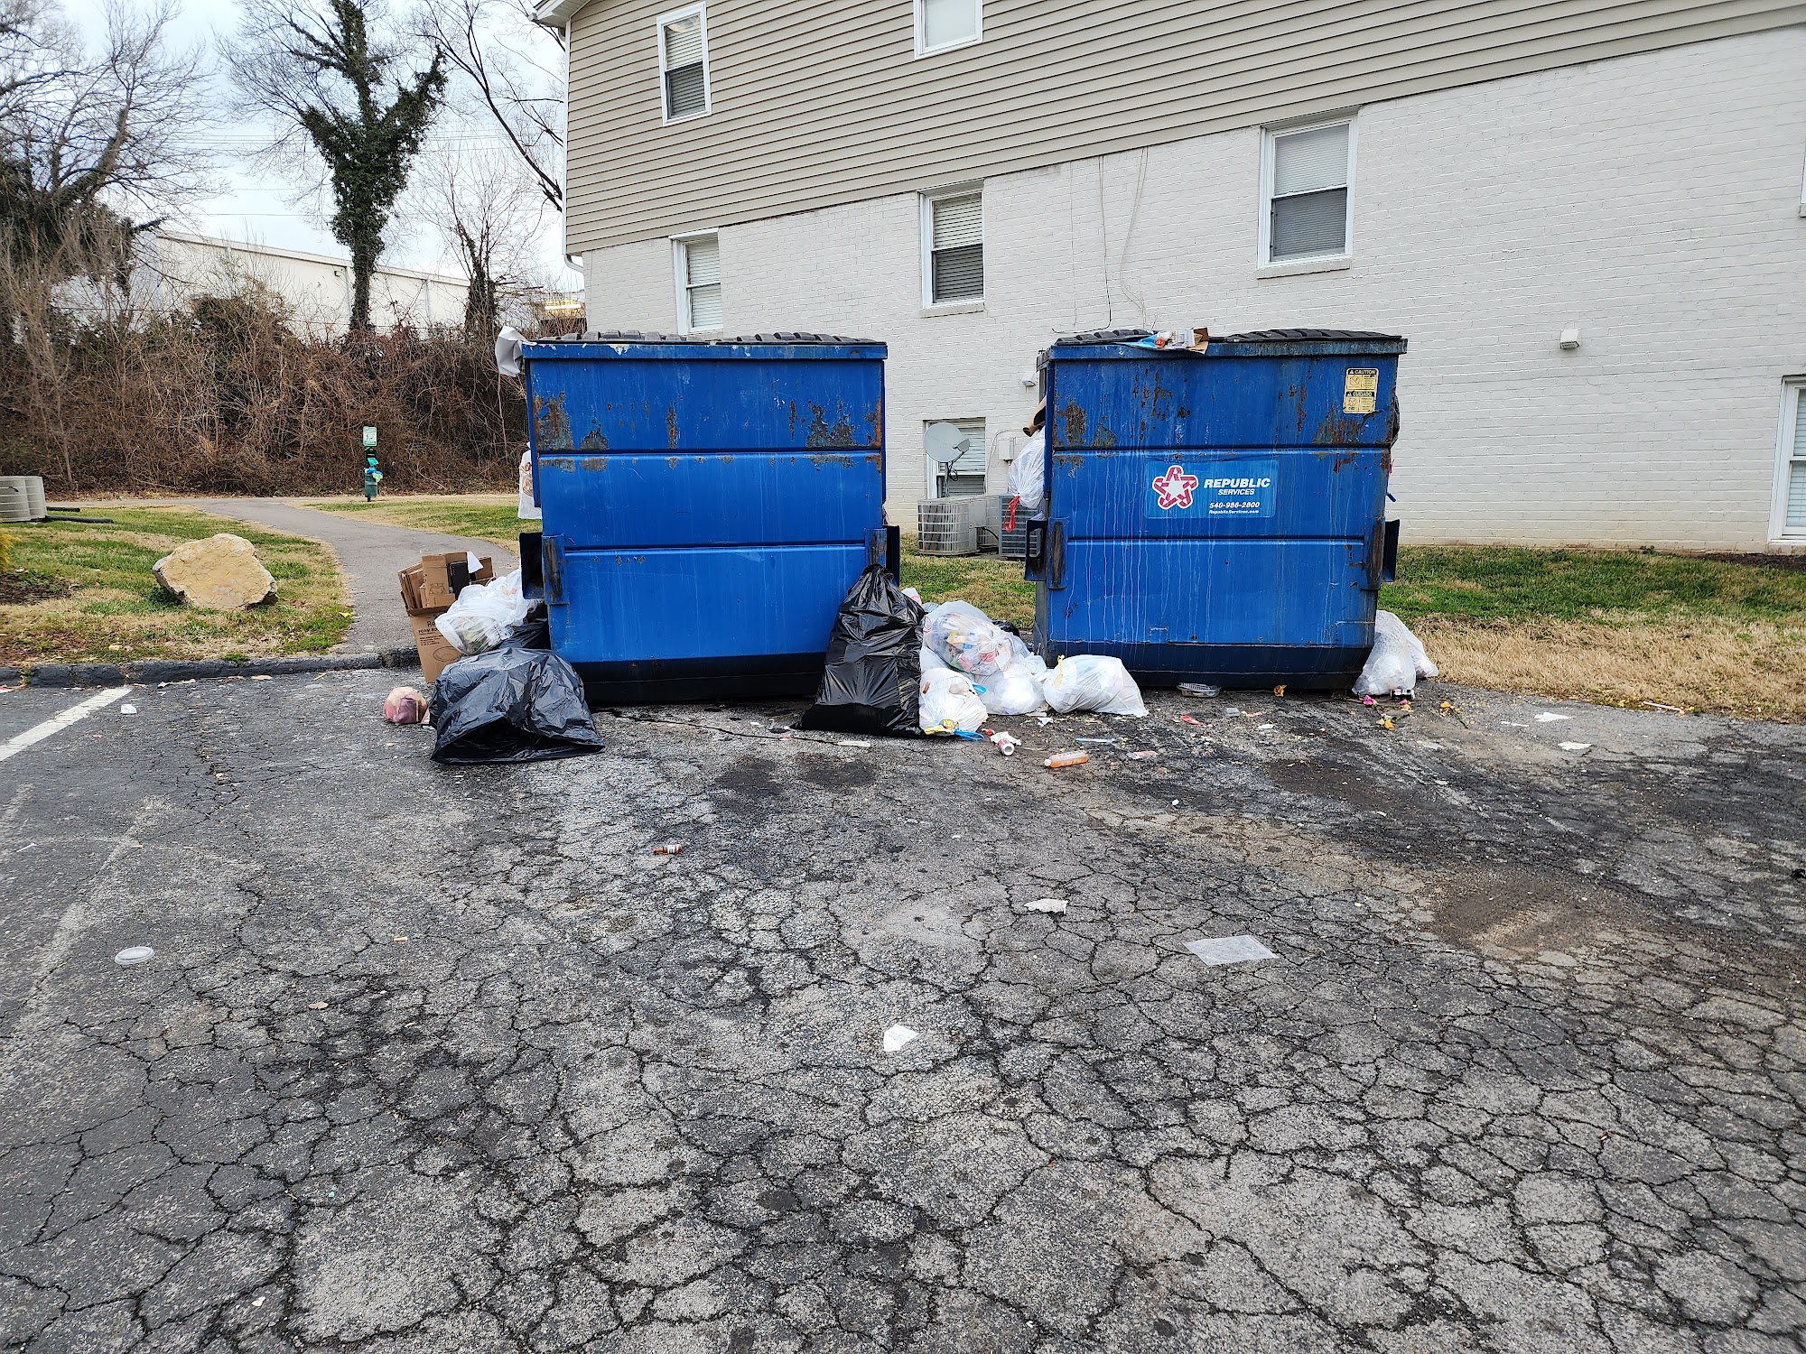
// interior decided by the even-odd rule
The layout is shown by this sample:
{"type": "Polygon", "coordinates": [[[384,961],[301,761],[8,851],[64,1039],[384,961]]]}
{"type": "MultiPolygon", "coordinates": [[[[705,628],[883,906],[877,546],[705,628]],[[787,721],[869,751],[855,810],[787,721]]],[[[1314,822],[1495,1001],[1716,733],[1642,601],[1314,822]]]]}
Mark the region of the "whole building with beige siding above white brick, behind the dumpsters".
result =
{"type": "Polygon", "coordinates": [[[668,4],[538,11],[589,323],[887,341],[894,522],[1062,334],[1329,327],[1407,540],[1806,547],[1802,4],[668,4]]]}

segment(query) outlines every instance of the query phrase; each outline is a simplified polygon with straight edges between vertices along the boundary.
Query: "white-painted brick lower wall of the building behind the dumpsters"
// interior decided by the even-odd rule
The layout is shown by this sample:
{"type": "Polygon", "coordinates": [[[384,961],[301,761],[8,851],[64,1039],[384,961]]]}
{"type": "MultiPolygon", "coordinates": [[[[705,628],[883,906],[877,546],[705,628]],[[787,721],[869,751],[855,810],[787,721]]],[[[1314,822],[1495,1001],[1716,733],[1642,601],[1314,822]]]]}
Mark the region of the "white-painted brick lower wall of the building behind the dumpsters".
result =
{"type": "MultiPolygon", "coordinates": [[[[923,421],[1019,428],[1060,334],[1322,325],[1410,339],[1407,540],[1761,549],[1781,377],[1806,372],[1802,155],[1795,27],[1362,108],[1347,271],[1255,276],[1250,128],[986,181],[973,314],[921,312],[916,195],[722,227],[726,330],[890,345],[905,525],[923,421]]],[[[675,325],[666,242],[587,276],[592,325],[675,325]]]]}

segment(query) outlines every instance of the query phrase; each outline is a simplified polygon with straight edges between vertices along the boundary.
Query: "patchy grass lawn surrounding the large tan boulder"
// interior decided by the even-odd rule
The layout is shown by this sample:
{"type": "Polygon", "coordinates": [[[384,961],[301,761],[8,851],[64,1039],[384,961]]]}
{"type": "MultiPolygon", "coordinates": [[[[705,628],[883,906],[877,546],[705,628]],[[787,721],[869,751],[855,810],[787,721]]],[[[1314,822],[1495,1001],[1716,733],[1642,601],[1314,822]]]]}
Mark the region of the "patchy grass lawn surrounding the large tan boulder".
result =
{"type": "Polygon", "coordinates": [[[5,527],[0,664],[130,663],[163,657],[320,654],[345,637],[350,608],[325,545],[179,507],[107,507],[112,524],[5,527]],[[244,536],[276,580],[276,601],[206,612],[168,596],[150,567],[177,545],[244,536]]]}

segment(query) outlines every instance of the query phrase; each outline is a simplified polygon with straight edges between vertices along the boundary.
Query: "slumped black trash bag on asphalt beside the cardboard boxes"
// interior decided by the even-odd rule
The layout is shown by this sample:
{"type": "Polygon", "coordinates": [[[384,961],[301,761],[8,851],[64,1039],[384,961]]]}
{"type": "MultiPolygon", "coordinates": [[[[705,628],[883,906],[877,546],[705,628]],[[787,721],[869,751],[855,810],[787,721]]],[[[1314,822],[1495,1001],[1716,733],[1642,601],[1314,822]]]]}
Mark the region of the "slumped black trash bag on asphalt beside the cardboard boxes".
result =
{"type": "Polygon", "coordinates": [[[601,751],[583,682],[549,650],[507,643],[439,673],[430,702],[433,760],[448,765],[551,762],[601,751]]]}

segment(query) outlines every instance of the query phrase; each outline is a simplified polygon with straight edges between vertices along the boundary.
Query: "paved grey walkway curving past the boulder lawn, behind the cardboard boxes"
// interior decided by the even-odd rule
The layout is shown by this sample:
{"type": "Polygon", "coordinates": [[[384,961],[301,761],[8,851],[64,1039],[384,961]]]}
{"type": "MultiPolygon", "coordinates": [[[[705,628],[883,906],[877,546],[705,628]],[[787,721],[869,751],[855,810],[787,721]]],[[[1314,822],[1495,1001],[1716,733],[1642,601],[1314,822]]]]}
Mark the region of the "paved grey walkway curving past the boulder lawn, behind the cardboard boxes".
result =
{"type": "MultiPolygon", "coordinates": [[[[148,502],[148,500],[146,500],[148,502]]],[[[414,630],[401,610],[396,574],[423,554],[475,551],[495,560],[495,572],[515,567],[515,552],[493,542],[415,531],[388,522],[370,522],[349,513],[321,513],[284,498],[170,498],[155,500],[199,507],[219,516],[255,522],[291,536],[316,540],[338,556],[350,592],[352,625],[334,654],[381,654],[388,648],[414,648],[414,630]]]]}

